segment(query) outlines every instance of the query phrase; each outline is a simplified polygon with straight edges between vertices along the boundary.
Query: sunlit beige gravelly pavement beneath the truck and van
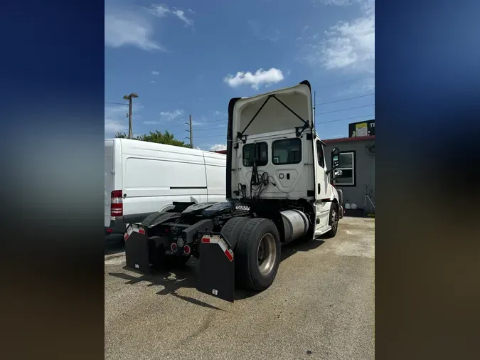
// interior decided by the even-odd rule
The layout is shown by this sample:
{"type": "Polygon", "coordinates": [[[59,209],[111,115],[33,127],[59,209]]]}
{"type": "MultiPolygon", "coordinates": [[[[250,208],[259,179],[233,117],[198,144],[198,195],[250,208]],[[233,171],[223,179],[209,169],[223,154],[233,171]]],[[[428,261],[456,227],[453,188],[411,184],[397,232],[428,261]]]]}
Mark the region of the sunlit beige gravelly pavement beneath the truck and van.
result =
{"type": "Polygon", "coordinates": [[[196,261],[124,269],[105,255],[105,359],[374,359],[375,220],[343,218],[333,239],[282,248],[268,290],[233,304],[196,291],[196,261]]]}

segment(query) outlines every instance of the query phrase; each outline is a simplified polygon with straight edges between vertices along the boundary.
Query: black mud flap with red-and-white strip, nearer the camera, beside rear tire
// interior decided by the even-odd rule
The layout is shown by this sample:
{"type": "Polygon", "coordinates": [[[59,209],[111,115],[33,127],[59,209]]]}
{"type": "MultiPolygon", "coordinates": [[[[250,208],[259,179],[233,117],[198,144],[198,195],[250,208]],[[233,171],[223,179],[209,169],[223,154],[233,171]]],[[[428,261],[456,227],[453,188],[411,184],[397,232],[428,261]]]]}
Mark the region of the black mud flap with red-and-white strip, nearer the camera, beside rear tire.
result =
{"type": "Polygon", "coordinates": [[[220,233],[206,233],[200,242],[197,290],[222,300],[235,300],[235,259],[228,241],[220,233]]]}

